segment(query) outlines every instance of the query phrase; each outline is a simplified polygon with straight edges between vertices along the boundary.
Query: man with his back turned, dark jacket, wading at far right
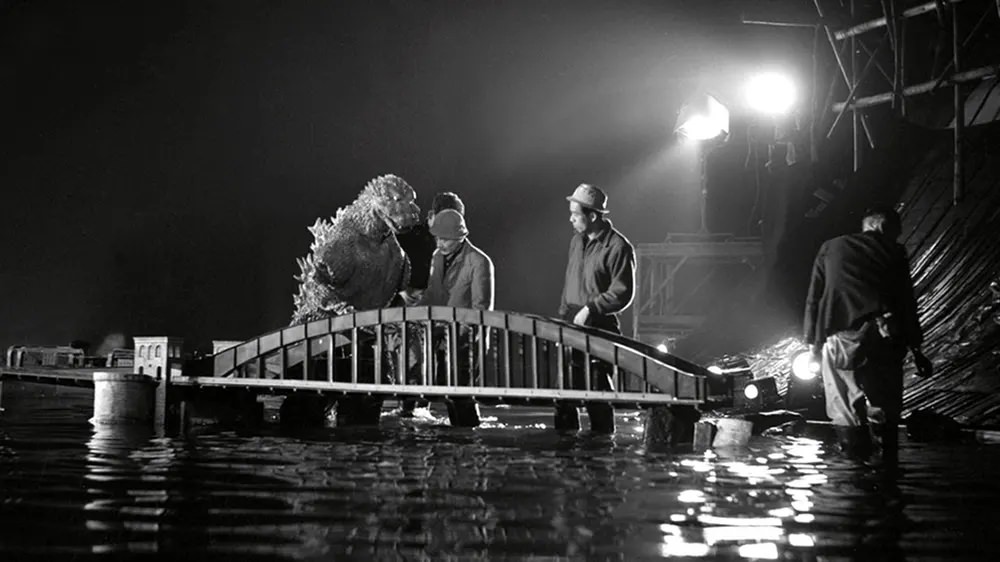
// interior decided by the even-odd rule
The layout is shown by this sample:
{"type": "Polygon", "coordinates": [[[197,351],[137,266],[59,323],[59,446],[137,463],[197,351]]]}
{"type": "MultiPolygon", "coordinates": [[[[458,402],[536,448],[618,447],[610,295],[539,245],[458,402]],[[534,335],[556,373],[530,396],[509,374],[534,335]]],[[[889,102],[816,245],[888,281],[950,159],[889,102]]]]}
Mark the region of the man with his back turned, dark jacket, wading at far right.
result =
{"type": "Polygon", "coordinates": [[[903,358],[929,376],[899,214],[868,211],[862,231],[828,240],[813,263],[805,341],[820,362],[826,412],[850,453],[895,459],[903,358]]]}

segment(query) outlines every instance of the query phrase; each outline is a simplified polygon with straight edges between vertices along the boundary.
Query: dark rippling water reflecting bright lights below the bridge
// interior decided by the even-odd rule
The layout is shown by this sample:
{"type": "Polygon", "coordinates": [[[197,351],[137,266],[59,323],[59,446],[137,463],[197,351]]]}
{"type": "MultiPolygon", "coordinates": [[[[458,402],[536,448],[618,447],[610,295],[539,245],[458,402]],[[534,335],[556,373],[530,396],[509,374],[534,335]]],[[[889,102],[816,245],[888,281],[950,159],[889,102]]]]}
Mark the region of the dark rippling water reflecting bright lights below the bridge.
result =
{"type": "Polygon", "coordinates": [[[0,555],[192,559],[997,559],[1000,447],[903,440],[900,470],[812,438],[646,450],[551,412],[380,428],[95,431],[92,394],[5,384],[0,555]]]}

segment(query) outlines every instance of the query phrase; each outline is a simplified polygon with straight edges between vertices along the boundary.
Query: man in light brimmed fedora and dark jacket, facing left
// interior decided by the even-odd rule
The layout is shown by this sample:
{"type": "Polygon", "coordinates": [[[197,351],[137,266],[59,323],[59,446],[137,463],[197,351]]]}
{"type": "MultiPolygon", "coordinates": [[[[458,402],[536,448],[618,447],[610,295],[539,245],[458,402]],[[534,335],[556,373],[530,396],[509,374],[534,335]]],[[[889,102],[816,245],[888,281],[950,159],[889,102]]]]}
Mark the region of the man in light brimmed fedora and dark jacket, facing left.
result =
{"type": "MultiPolygon", "coordinates": [[[[569,244],[559,316],[579,326],[621,334],[618,313],[632,303],[635,289],[635,249],[607,219],[608,196],[599,187],[580,184],[566,200],[569,222],[576,234],[569,244]]],[[[573,359],[574,370],[582,370],[582,365],[577,365],[583,361],[582,354],[574,354],[573,359]]],[[[605,363],[593,365],[591,388],[612,390],[610,372],[605,363]]],[[[579,379],[579,375],[574,378],[579,379]]],[[[593,430],[614,431],[614,408],[610,404],[588,404],[587,413],[593,430]]],[[[560,406],[556,411],[557,426],[579,427],[579,421],[573,421],[575,414],[575,408],[560,406]]]]}

